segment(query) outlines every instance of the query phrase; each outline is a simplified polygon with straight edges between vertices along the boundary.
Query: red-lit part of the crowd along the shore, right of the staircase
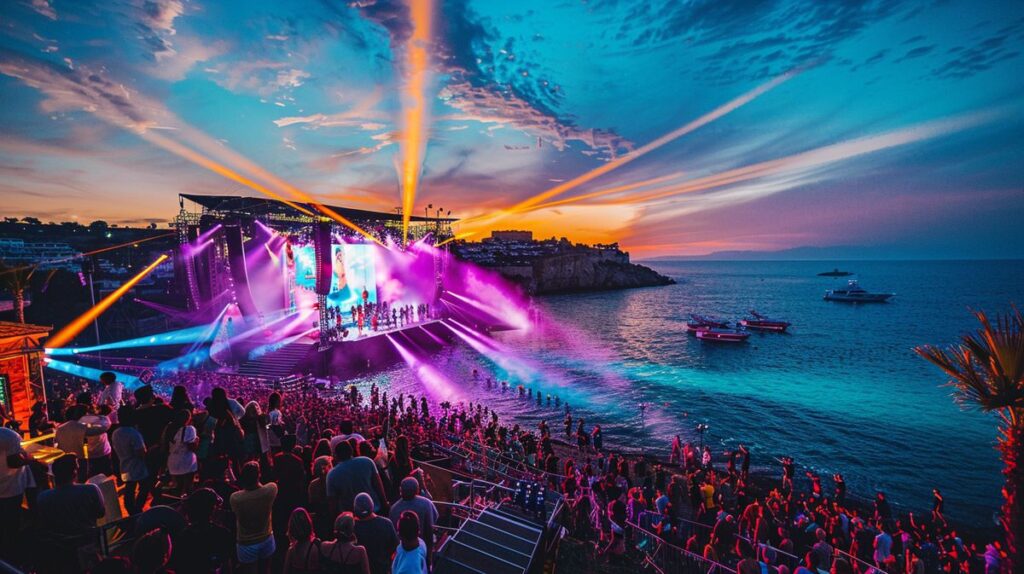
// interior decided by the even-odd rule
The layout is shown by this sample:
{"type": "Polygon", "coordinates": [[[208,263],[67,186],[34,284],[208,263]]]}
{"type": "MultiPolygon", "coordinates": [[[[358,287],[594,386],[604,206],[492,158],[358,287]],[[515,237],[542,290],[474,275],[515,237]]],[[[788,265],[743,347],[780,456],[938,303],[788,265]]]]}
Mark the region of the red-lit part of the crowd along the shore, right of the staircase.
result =
{"type": "Polygon", "coordinates": [[[566,463],[570,522],[599,532],[602,555],[627,555],[628,538],[652,534],[681,556],[739,574],[1002,572],[998,541],[965,541],[945,518],[938,489],[930,515],[900,516],[884,492],[870,503],[850,499],[840,474],[831,477],[831,492],[812,472],[803,481],[809,488],[800,488],[790,457],[779,459],[776,482],[751,475],[745,446],[724,454],[713,461],[710,447],[677,436],[671,470],[618,455],[603,462],[598,457],[597,465],[588,460],[582,473],[566,463]],[[585,496],[579,495],[581,480],[589,485],[585,496]]]}

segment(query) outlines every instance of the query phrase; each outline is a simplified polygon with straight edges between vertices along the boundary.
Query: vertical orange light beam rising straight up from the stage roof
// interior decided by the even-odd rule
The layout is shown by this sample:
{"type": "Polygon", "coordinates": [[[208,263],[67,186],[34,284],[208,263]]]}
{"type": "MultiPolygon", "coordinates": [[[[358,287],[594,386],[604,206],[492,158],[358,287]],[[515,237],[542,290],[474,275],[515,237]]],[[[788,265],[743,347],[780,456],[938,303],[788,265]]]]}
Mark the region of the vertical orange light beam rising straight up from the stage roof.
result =
{"type": "Polygon", "coordinates": [[[409,79],[402,98],[402,157],[401,157],[401,240],[409,242],[409,222],[416,203],[416,188],[420,183],[423,153],[427,139],[427,74],[430,42],[432,0],[410,0],[413,36],[406,50],[409,79]]]}

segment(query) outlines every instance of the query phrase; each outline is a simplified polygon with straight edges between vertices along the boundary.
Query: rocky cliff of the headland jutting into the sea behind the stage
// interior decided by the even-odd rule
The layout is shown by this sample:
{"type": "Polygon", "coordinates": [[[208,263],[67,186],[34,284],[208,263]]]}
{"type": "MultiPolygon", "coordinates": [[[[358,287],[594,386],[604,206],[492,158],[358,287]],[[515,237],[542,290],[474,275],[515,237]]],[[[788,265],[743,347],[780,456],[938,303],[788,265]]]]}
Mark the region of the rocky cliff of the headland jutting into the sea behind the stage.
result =
{"type": "Polygon", "coordinates": [[[627,254],[597,250],[547,255],[530,264],[496,266],[494,269],[535,294],[608,291],[676,282],[653,269],[630,263],[627,254]]]}

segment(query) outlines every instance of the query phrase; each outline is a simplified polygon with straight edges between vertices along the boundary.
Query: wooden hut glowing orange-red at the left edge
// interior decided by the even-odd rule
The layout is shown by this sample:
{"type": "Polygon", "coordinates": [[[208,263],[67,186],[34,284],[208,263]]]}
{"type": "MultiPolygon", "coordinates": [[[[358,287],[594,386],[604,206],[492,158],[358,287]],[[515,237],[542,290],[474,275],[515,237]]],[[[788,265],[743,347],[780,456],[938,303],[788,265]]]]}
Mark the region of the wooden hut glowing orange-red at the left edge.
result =
{"type": "Polygon", "coordinates": [[[42,339],[52,327],[0,321],[0,403],[29,428],[32,404],[46,402],[42,339]]]}

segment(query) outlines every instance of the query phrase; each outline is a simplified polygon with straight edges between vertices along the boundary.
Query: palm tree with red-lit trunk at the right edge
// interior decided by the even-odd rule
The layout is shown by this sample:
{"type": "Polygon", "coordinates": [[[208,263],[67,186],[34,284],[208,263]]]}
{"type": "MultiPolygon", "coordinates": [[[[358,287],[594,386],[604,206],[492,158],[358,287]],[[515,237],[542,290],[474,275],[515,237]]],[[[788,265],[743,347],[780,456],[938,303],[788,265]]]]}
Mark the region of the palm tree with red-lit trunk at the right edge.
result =
{"type": "Polygon", "coordinates": [[[949,376],[953,399],[965,407],[999,416],[1002,457],[1002,528],[1008,572],[1024,570],[1024,316],[1014,308],[993,325],[984,312],[978,333],[964,335],[948,349],[914,349],[949,376]]]}

